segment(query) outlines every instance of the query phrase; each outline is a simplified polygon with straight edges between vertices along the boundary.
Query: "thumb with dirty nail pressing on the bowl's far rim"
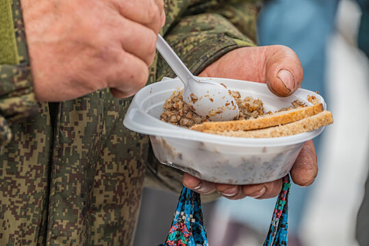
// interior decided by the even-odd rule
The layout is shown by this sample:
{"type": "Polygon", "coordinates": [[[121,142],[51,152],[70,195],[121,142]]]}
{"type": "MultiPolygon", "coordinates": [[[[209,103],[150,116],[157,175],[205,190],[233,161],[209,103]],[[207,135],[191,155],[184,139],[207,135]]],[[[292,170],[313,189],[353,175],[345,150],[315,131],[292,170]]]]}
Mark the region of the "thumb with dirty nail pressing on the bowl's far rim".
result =
{"type": "Polygon", "coordinates": [[[303,81],[303,67],[287,46],[244,47],[223,55],[199,76],[257,81],[277,96],[290,96],[303,81]]]}

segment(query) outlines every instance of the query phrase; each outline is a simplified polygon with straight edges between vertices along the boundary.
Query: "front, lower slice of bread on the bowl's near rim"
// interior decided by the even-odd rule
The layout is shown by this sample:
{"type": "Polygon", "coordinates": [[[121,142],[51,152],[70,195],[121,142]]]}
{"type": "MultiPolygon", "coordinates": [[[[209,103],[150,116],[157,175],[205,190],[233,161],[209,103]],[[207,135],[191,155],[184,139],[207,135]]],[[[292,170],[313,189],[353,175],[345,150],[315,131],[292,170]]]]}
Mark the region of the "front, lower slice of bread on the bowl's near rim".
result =
{"type": "Polygon", "coordinates": [[[251,131],[205,131],[206,133],[213,133],[216,135],[223,135],[229,137],[283,137],[289,135],[295,135],[298,133],[305,133],[308,131],[316,130],[322,126],[327,126],[333,123],[332,114],[329,111],[322,111],[316,115],[303,118],[296,122],[283,124],[280,126],[273,126],[269,128],[262,128],[251,131]]]}

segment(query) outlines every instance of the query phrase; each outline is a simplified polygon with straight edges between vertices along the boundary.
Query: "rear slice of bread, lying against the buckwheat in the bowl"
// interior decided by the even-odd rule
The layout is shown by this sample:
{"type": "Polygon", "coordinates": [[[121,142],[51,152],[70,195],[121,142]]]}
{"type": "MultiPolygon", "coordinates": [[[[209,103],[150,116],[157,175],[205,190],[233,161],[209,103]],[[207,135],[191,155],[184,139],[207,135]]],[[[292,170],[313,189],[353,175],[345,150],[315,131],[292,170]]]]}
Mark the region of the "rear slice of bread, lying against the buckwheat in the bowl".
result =
{"type": "Polygon", "coordinates": [[[268,128],[270,126],[278,126],[288,124],[311,115],[316,115],[323,111],[321,103],[309,107],[299,107],[288,111],[281,111],[264,115],[260,118],[252,120],[231,120],[227,122],[204,122],[191,127],[191,130],[201,131],[203,133],[216,133],[224,131],[249,131],[260,128],[268,128]]]}

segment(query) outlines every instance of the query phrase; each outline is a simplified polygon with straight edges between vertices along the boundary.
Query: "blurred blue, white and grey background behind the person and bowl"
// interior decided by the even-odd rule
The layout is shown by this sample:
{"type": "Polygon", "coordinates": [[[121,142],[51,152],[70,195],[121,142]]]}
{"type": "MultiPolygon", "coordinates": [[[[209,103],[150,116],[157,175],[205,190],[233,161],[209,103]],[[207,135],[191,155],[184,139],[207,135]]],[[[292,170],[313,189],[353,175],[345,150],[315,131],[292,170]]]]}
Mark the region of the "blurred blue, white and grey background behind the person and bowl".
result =
{"type": "MultiPolygon", "coordinates": [[[[259,44],[294,49],[304,68],[302,87],[319,91],[334,119],[314,139],[319,165],[314,185],[291,188],[290,246],[359,245],[357,231],[360,245],[369,245],[369,204],[360,210],[357,230],[369,167],[369,31],[363,35],[368,2],[270,0],[259,15],[259,44]]],[[[164,243],[177,200],[144,189],[134,246],[164,243]]],[[[275,199],[249,197],[203,204],[209,245],[262,245],[274,206],[275,199]]]]}

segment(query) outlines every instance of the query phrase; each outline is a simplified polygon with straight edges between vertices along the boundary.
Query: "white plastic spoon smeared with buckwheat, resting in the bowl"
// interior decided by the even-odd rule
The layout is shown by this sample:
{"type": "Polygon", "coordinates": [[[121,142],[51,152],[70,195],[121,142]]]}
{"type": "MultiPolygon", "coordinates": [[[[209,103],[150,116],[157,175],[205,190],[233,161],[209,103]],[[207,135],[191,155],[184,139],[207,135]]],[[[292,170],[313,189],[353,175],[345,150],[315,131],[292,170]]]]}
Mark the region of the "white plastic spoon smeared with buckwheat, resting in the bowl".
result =
{"type": "Polygon", "coordinates": [[[229,90],[220,83],[194,76],[160,34],[156,49],[183,82],[183,100],[195,113],[213,121],[238,117],[238,105],[229,90]]]}

